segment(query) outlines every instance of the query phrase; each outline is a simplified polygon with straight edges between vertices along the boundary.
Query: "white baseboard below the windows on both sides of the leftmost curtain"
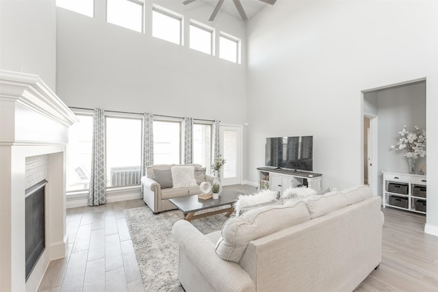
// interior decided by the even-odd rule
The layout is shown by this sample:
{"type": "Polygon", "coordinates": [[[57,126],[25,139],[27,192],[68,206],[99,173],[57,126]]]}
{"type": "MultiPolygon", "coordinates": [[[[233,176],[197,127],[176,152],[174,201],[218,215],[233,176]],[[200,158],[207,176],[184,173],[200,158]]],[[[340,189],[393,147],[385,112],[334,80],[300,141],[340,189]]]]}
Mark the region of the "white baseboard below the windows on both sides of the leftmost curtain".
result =
{"type": "MultiPolygon", "coordinates": [[[[140,199],[140,187],[136,187],[135,189],[112,189],[107,192],[107,202],[109,203],[136,199],[140,199]]],[[[67,195],[67,209],[83,206],[88,206],[88,194],[76,194],[74,196],[67,195]]]]}

